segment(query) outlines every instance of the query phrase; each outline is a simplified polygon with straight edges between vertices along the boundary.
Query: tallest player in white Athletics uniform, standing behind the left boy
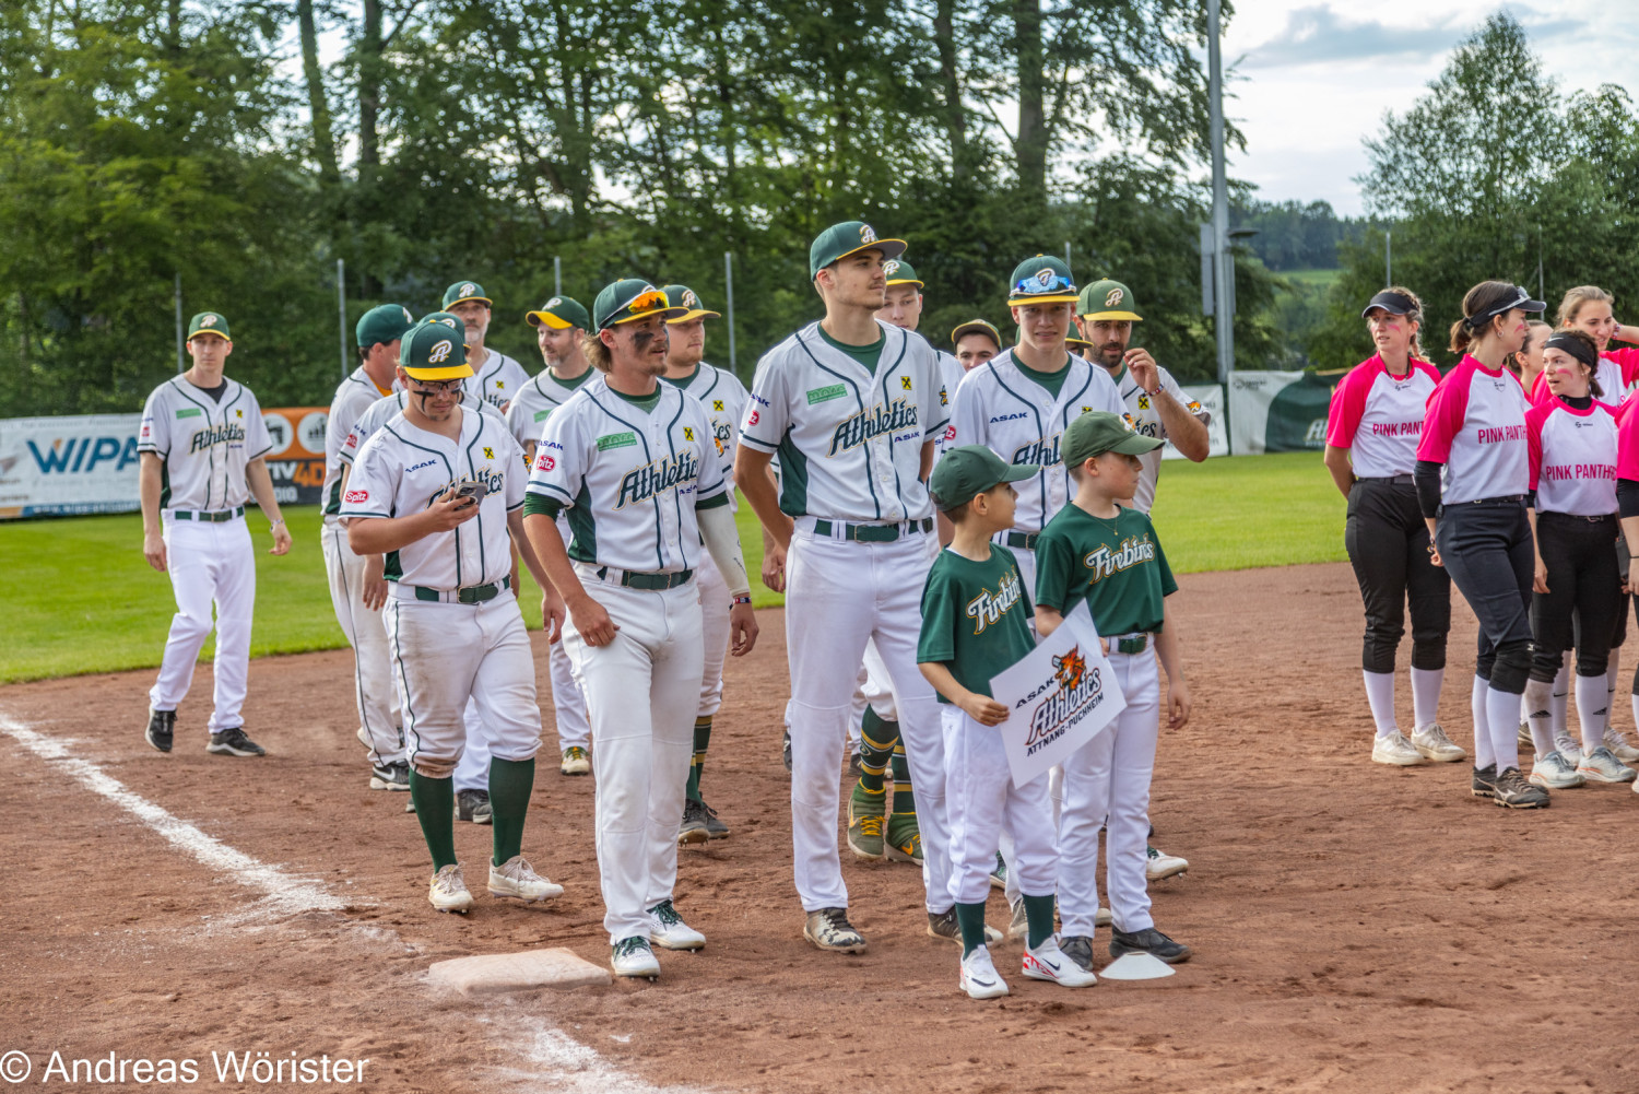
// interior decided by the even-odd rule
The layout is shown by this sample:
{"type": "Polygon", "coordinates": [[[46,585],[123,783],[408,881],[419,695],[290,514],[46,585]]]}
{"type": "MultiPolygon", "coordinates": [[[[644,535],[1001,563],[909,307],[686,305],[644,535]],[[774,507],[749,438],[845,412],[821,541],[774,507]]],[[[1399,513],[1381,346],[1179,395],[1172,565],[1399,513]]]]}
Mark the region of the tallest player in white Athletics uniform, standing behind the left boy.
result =
{"type": "Polygon", "coordinates": [[[875,318],[883,262],[905,251],[844,221],[808,253],[826,317],[764,354],[741,425],[734,481],[772,535],[787,584],[792,669],[792,840],[803,935],[862,953],[838,858],[838,769],[854,682],[875,640],[898,697],[916,794],[929,923],[951,910],[944,743],[916,668],[921,582],[931,564],[926,477],[949,423],[939,358],[921,335],[875,318]],[[780,489],[769,461],[780,456],[780,489]]]}

